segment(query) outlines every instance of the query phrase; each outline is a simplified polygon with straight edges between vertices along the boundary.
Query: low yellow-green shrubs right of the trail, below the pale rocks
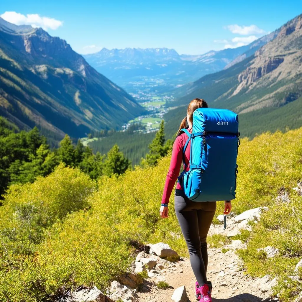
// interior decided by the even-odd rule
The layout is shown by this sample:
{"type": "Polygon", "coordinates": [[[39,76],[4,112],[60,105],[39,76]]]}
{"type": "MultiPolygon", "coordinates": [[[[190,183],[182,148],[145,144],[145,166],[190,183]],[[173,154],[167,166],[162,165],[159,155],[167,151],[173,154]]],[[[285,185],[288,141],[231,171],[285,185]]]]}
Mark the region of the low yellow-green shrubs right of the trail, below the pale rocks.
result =
{"type": "Polygon", "coordinates": [[[279,293],[284,302],[293,301],[294,295],[302,291],[302,284],[288,277],[297,275],[294,268],[302,257],[302,196],[293,192],[289,197],[290,201],[275,202],[262,213],[250,233],[247,249],[238,251],[249,274],[278,278],[275,294],[279,293]],[[279,249],[279,255],[267,259],[265,252],[257,252],[266,246],[279,249]]]}

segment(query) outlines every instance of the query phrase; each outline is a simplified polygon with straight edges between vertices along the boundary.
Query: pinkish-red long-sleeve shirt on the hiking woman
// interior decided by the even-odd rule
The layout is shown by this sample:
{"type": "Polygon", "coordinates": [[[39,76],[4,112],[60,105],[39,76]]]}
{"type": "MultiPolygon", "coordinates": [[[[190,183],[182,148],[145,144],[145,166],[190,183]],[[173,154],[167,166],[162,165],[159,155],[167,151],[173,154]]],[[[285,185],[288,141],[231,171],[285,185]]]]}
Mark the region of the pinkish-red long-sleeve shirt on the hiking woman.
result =
{"type": "MultiPolygon", "coordinates": [[[[191,128],[188,129],[188,131],[189,133],[192,133],[191,128]]],[[[183,132],[178,137],[176,137],[174,141],[170,167],[165,182],[164,192],[162,194],[162,204],[169,203],[169,198],[171,196],[172,190],[174,188],[175,182],[180,172],[180,168],[182,166],[183,149],[187,140],[188,140],[188,136],[183,132]]],[[[185,169],[185,165],[183,165],[183,168],[186,171],[188,171],[190,168],[189,167],[190,148],[191,148],[191,140],[189,141],[188,146],[185,150],[185,163],[187,165],[187,168],[185,169]]],[[[177,182],[176,189],[182,190],[182,186],[180,185],[179,182],[177,182]]]]}

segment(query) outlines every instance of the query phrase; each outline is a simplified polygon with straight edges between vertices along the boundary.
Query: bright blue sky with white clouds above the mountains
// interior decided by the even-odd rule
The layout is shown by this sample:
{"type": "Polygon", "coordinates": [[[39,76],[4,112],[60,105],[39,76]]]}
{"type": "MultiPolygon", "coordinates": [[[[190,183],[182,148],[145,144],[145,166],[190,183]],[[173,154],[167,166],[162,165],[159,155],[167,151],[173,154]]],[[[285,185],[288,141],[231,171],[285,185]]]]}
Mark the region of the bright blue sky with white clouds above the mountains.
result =
{"type": "Polygon", "coordinates": [[[78,53],[167,47],[180,54],[247,44],[301,13],[301,0],[1,0],[0,11],[12,23],[43,27],[78,53]]]}

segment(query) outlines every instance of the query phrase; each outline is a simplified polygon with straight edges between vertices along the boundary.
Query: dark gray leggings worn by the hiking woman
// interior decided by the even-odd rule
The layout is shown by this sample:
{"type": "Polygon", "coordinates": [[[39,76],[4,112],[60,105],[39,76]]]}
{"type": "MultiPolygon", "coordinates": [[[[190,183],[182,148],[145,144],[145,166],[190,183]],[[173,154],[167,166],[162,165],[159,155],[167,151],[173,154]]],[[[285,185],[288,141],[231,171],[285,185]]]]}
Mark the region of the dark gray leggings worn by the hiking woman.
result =
{"type": "Polygon", "coordinates": [[[199,286],[202,286],[207,282],[207,233],[216,211],[216,201],[191,201],[179,189],[175,190],[174,201],[175,213],[188,246],[192,270],[199,286]]]}

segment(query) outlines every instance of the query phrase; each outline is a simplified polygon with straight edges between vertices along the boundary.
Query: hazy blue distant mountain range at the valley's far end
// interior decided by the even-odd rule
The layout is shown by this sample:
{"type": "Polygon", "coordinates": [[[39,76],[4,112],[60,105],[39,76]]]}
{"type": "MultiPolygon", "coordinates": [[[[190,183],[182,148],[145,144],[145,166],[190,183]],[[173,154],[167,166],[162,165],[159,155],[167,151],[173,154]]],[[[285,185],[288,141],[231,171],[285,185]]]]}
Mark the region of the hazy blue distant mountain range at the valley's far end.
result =
{"type": "MultiPolygon", "coordinates": [[[[118,85],[133,92],[133,83],[139,87],[171,90],[177,85],[197,80],[201,76],[230,67],[274,39],[275,31],[246,46],[202,55],[179,55],[168,48],[103,48],[98,53],[84,55],[87,62],[118,85]]],[[[135,88],[134,88],[135,89],[135,88]]]]}

